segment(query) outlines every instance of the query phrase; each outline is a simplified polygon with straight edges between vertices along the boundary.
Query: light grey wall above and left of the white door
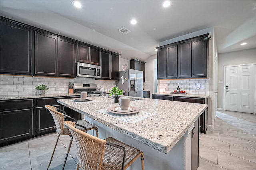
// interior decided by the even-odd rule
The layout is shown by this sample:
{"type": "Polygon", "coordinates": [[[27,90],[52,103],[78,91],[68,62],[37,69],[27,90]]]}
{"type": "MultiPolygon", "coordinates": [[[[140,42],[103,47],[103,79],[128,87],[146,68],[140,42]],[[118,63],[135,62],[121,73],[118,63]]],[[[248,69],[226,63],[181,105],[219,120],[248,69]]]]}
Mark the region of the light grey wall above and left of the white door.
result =
{"type": "Polygon", "coordinates": [[[223,109],[224,66],[248,63],[256,63],[256,48],[218,54],[218,108],[223,109]]]}

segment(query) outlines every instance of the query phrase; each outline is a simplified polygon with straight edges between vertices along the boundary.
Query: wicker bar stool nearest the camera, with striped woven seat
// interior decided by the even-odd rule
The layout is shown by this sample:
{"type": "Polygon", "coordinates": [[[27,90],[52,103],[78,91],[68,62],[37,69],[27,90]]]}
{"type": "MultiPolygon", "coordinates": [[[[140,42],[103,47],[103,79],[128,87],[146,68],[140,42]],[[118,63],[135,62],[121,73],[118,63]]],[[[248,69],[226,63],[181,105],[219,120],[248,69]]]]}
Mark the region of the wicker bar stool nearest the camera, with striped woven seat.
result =
{"type": "Polygon", "coordinates": [[[74,122],[65,121],[64,125],[68,127],[76,142],[76,170],[126,170],[139,157],[144,170],[142,151],[112,137],[105,140],[96,138],[76,128],[82,126],[74,122]]]}

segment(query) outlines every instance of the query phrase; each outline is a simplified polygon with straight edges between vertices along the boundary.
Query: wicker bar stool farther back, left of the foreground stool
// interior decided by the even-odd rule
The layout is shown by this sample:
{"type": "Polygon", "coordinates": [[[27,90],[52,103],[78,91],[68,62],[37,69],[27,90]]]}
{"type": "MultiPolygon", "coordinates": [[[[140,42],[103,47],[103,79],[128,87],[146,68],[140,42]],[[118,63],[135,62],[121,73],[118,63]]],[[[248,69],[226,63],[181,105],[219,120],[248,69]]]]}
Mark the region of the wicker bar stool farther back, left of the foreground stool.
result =
{"type": "MultiPolygon", "coordinates": [[[[56,125],[56,132],[59,134],[58,138],[57,138],[57,141],[56,141],[56,144],[54,146],[54,150],[52,152],[52,157],[50,159],[48,168],[50,167],[50,164],[52,162],[52,158],[53,158],[53,155],[54,155],[54,152],[55,152],[58,140],[60,138],[60,135],[69,135],[70,136],[70,143],[69,143],[67,154],[66,154],[66,157],[65,157],[65,160],[64,160],[64,164],[63,164],[63,167],[62,167],[62,170],[64,170],[64,167],[65,167],[65,164],[66,164],[66,161],[67,161],[67,158],[68,158],[68,153],[70,151],[70,147],[71,147],[71,144],[72,144],[72,141],[73,141],[73,137],[70,134],[70,131],[68,130],[67,127],[63,126],[65,118],[68,117],[70,119],[73,119],[76,123],[81,124],[83,127],[86,127],[86,130],[96,130],[96,136],[97,137],[98,137],[98,128],[95,127],[94,125],[90,124],[89,122],[85,121],[85,120],[76,121],[76,119],[66,115],[65,111],[62,111],[61,109],[58,109],[57,107],[50,106],[50,105],[45,105],[45,108],[48,109],[48,111],[50,111],[50,113],[52,114],[52,117],[53,117],[55,125],[56,125]],[[57,110],[62,111],[63,113],[60,113],[57,110]]],[[[82,128],[82,127],[79,127],[79,129],[82,130],[82,131],[85,131],[85,129],[82,128]]],[[[48,170],[48,168],[47,168],[47,170],[48,170]]]]}

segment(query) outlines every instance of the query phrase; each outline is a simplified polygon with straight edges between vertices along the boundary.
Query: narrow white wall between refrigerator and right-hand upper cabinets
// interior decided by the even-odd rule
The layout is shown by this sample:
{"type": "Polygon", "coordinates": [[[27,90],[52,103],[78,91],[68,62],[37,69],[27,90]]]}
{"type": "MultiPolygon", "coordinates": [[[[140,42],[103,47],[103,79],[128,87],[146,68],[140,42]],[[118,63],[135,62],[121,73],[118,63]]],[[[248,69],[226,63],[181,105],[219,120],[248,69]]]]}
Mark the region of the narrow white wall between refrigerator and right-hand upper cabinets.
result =
{"type": "Polygon", "coordinates": [[[150,93],[153,93],[154,91],[154,59],[156,58],[157,55],[151,55],[146,59],[145,64],[145,81],[150,81],[150,93]]]}

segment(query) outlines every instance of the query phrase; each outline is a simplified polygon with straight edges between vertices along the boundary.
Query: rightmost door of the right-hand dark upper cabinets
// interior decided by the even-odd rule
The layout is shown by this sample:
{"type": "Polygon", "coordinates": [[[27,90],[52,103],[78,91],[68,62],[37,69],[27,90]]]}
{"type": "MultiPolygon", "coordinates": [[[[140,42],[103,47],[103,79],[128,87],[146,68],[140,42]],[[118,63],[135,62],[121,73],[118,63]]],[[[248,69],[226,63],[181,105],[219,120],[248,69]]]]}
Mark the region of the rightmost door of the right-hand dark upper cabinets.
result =
{"type": "Polygon", "coordinates": [[[192,77],[207,76],[208,38],[192,41],[192,77]]]}

